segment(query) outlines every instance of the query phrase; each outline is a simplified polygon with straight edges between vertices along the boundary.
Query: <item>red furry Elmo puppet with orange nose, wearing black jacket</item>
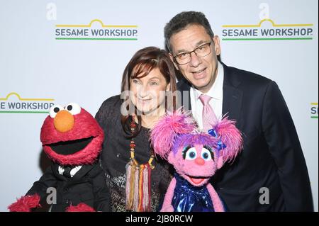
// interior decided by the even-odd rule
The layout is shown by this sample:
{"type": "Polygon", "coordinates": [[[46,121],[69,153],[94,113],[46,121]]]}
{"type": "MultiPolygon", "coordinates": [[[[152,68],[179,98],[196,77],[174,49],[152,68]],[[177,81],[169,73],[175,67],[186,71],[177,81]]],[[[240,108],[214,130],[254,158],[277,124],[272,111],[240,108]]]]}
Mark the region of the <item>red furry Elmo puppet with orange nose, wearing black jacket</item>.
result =
{"type": "Polygon", "coordinates": [[[9,210],[30,212],[46,202],[52,212],[111,211],[98,161],[103,139],[99,124],[77,103],[52,106],[40,135],[52,165],[9,210]]]}

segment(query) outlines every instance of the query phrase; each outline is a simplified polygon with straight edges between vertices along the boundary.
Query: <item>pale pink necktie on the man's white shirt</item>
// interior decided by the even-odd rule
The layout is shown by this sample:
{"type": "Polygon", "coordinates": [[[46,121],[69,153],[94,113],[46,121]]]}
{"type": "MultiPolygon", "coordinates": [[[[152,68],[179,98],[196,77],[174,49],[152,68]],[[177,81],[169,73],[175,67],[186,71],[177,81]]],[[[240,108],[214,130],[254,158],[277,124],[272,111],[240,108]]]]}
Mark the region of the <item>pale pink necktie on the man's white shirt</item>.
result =
{"type": "Polygon", "coordinates": [[[209,104],[209,101],[211,101],[211,96],[201,94],[199,99],[201,100],[201,103],[203,103],[203,129],[208,131],[211,130],[213,125],[217,123],[216,115],[213,111],[213,108],[209,104]]]}

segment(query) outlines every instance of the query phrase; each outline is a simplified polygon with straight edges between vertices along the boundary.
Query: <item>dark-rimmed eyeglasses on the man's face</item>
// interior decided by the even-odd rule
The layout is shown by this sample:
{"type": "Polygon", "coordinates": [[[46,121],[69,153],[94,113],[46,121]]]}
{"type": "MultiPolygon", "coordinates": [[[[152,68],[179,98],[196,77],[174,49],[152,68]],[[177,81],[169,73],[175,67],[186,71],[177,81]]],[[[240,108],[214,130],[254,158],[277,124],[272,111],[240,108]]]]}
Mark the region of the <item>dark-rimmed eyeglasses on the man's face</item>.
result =
{"type": "MultiPolygon", "coordinates": [[[[212,42],[211,42],[212,43],[212,42]]],[[[211,53],[211,43],[206,43],[198,46],[195,50],[191,52],[182,52],[174,57],[175,62],[179,65],[188,64],[191,62],[191,53],[195,52],[197,57],[206,57],[211,53]]]]}

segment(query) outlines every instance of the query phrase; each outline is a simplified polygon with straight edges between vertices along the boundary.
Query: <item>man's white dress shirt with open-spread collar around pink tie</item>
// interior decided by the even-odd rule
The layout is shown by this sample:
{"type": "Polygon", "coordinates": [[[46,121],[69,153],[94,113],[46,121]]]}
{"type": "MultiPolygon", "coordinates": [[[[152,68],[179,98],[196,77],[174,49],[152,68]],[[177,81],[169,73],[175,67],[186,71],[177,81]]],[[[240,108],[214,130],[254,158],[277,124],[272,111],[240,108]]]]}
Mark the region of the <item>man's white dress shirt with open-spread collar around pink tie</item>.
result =
{"type": "MultiPolygon", "coordinates": [[[[211,89],[205,94],[207,96],[211,96],[211,101],[209,104],[213,108],[213,111],[216,114],[216,117],[220,119],[223,115],[223,84],[224,84],[224,68],[223,65],[218,62],[218,73],[216,80],[211,86],[211,89]]],[[[191,86],[191,112],[196,122],[198,123],[198,127],[203,129],[203,103],[199,99],[199,96],[203,94],[201,91],[191,86]]]]}

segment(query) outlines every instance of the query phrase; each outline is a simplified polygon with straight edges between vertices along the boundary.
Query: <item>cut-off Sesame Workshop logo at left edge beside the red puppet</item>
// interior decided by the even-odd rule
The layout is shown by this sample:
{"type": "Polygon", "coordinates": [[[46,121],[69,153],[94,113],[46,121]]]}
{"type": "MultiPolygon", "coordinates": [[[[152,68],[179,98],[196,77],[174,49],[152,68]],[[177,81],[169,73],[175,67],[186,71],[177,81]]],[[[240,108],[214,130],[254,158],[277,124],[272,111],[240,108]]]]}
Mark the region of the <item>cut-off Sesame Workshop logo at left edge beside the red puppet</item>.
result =
{"type": "Polygon", "coordinates": [[[21,98],[12,92],[0,98],[0,113],[49,113],[52,101],[52,98],[21,98]]]}

